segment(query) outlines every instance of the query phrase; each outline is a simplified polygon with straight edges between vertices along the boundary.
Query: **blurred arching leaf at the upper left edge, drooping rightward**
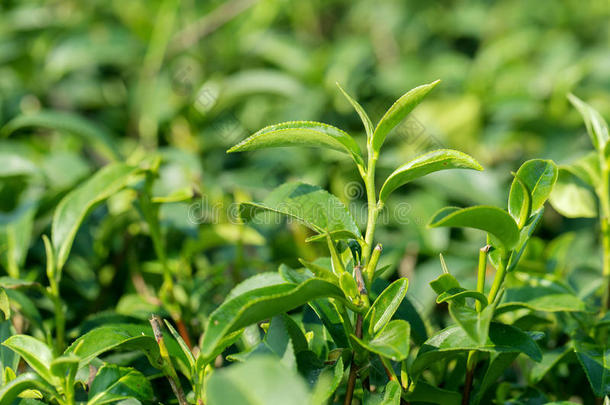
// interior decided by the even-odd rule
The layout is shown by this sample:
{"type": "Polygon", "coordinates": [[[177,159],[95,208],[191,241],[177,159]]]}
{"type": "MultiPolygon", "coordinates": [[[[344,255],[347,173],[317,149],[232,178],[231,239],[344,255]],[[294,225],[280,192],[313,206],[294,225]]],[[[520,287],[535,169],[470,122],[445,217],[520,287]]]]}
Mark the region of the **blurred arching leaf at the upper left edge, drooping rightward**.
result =
{"type": "Polygon", "coordinates": [[[86,143],[98,145],[105,152],[105,156],[111,157],[113,160],[121,159],[112,134],[97,123],[80,115],[62,111],[39,111],[34,114],[20,115],[2,128],[2,134],[7,136],[18,129],[27,127],[44,127],[80,136],[86,143]]]}

